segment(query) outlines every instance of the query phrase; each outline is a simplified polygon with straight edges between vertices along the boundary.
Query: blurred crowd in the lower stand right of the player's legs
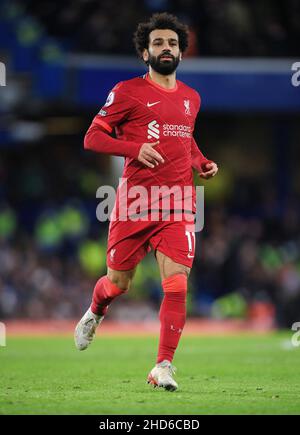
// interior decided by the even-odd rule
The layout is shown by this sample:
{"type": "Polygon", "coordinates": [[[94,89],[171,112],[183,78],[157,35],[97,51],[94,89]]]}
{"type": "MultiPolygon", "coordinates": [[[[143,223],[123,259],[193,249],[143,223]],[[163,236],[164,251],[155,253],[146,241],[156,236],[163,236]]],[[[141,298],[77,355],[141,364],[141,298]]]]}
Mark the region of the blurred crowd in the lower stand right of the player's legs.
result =
{"type": "Polygon", "coordinates": [[[207,215],[192,274],[198,313],[290,327],[300,306],[298,204],[262,219],[218,206],[207,215]]]}

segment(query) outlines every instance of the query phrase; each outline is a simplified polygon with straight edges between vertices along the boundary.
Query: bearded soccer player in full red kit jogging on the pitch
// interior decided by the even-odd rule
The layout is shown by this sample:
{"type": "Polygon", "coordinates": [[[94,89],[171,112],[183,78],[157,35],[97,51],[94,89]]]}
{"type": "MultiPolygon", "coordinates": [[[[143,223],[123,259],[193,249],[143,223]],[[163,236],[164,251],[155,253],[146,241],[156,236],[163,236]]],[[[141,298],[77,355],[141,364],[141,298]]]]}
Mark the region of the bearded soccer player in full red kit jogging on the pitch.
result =
{"type": "MultiPolygon", "coordinates": [[[[208,179],[218,167],[203,156],[193,139],[200,96],[176,80],[176,68],[188,46],[187,26],[168,13],[154,14],[149,22],[138,25],[134,42],[148,72],[113,88],[86,133],[84,147],[125,157],[122,180],[128,188],[151,194],[153,186],[177,186],[183,192],[190,187],[194,195],[192,168],[208,179]],[[113,130],[116,138],[110,136],[113,130]]],[[[76,326],[75,343],[79,350],[88,347],[109,305],[128,291],[138,263],[152,248],[164,297],[157,361],[148,383],[174,391],[178,385],[172,360],[186,320],[187,280],[195,253],[194,223],[186,213],[193,215],[195,204],[191,201],[186,206],[187,201],[178,206],[178,201],[170,201],[165,220],[164,194],[156,202],[150,195],[150,202],[147,199],[140,206],[137,220],[130,215],[134,199],[127,195],[124,202],[124,195],[120,185],[114,219],[110,219],[107,275],[96,283],[91,306],[76,326]],[[183,210],[178,220],[176,213],[183,210]],[[158,218],[151,219],[153,211],[158,218]]]]}

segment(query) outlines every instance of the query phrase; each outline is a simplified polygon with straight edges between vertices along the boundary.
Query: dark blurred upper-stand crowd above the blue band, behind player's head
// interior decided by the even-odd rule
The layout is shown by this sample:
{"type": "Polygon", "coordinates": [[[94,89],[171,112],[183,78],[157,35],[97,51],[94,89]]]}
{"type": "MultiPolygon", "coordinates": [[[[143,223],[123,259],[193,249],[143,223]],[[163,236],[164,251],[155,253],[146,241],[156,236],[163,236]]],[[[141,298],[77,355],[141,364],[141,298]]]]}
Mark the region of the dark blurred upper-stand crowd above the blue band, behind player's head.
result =
{"type": "Polygon", "coordinates": [[[137,23],[153,12],[176,14],[190,27],[190,56],[296,56],[298,0],[26,0],[50,35],[73,50],[133,54],[137,23]]]}

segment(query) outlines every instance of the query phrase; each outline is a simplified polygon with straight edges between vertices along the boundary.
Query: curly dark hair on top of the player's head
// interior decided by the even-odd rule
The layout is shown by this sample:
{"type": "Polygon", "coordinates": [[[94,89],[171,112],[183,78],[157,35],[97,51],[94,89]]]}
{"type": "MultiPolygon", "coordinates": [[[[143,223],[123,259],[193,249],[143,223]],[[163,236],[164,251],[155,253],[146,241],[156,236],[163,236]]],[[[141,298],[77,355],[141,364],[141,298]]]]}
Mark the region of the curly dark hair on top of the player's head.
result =
{"type": "Polygon", "coordinates": [[[162,12],[153,14],[147,23],[139,23],[133,36],[133,42],[139,57],[143,58],[143,51],[149,46],[149,34],[156,29],[170,29],[176,32],[180,51],[185,52],[188,47],[188,26],[180,23],[175,15],[162,12]]]}

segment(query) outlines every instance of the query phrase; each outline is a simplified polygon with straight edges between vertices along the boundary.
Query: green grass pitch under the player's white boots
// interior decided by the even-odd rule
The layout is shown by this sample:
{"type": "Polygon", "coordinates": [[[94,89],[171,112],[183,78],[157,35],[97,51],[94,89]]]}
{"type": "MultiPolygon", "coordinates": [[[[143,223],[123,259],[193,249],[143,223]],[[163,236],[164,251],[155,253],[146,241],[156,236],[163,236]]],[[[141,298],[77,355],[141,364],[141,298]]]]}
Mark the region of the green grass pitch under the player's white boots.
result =
{"type": "Polygon", "coordinates": [[[0,347],[0,414],[299,414],[300,348],[291,334],[183,337],[179,389],[146,384],[157,338],[8,338],[0,347]]]}

